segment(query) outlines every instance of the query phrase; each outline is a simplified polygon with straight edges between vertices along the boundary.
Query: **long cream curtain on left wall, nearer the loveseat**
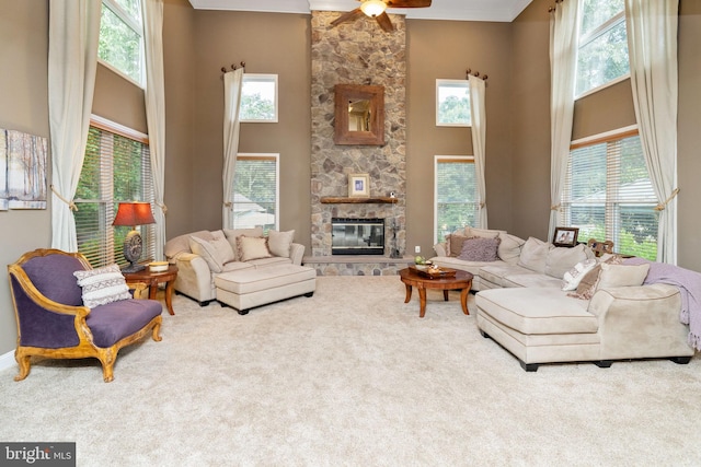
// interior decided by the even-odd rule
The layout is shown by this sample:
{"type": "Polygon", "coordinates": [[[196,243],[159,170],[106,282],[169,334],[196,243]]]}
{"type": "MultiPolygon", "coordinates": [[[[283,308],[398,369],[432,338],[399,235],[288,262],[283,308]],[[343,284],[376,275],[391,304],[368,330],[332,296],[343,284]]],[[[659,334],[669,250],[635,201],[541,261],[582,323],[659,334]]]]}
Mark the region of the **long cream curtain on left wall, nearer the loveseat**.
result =
{"type": "Polygon", "coordinates": [[[149,130],[156,207],[156,258],[165,245],[165,87],[163,73],[163,0],[142,0],[146,48],[146,119],[149,130]]]}

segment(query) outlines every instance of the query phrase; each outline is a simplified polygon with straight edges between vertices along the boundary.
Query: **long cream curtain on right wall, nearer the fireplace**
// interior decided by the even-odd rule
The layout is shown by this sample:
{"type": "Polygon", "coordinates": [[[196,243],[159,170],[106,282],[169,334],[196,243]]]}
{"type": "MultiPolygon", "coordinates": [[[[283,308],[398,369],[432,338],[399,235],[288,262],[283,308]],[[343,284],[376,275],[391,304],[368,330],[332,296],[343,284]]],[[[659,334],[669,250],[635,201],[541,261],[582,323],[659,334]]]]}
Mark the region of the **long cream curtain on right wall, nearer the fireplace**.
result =
{"type": "Polygon", "coordinates": [[[577,59],[577,24],[579,2],[558,3],[550,16],[550,225],[552,238],[558,225],[560,202],[567,172],[572,122],[574,118],[574,82],[577,59]]]}

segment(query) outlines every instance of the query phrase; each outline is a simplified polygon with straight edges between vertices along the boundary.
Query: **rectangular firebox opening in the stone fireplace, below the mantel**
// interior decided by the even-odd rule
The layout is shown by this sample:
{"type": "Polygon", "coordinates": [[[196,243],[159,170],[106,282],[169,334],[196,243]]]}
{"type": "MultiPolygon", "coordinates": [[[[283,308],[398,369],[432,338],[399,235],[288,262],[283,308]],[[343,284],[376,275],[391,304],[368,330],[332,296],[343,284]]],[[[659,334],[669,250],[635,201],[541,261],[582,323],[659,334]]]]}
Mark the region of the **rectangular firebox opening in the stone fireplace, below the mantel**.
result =
{"type": "Polygon", "coordinates": [[[384,219],[331,219],[332,255],[383,255],[384,219]]]}

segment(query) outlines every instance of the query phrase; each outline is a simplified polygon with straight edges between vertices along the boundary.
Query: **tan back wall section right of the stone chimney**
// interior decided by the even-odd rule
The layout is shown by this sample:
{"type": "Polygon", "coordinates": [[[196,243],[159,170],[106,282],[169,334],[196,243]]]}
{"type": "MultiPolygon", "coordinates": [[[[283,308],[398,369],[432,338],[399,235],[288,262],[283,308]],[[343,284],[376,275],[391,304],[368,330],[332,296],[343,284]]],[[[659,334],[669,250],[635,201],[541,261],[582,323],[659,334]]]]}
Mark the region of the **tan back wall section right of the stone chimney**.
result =
{"type": "Polygon", "coordinates": [[[470,128],[436,126],[436,79],[486,81],[489,226],[512,227],[512,27],[507,23],[406,21],[406,252],[434,255],[434,156],[472,155],[470,128]]]}

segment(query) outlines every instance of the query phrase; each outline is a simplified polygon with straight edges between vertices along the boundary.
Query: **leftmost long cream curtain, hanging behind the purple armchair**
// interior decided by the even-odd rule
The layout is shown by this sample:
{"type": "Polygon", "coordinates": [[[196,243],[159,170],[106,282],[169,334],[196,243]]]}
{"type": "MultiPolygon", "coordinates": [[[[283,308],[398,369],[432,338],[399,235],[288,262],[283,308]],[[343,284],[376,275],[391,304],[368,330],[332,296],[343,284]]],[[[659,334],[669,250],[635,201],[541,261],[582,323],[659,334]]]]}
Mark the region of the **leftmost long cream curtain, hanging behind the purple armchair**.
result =
{"type": "Polygon", "coordinates": [[[51,139],[51,247],[78,250],[72,209],[85,155],[97,68],[102,2],[50,0],[48,118],[51,139]]]}

